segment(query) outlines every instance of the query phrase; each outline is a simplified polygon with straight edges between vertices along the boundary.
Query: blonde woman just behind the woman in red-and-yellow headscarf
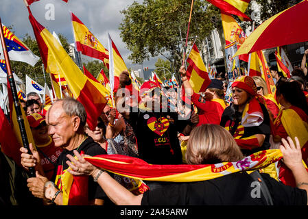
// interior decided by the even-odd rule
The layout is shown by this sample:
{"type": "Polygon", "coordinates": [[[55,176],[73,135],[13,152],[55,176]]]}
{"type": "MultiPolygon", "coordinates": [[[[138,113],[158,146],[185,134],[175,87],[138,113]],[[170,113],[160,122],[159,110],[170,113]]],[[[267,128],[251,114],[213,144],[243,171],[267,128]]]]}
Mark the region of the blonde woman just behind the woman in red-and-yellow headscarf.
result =
{"type": "Polygon", "coordinates": [[[254,82],[257,85],[257,94],[263,96],[266,103],[266,107],[268,108],[268,113],[270,114],[270,117],[272,117],[272,120],[274,121],[279,114],[279,106],[276,102],[276,99],[274,98],[274,95],[268,93],[268,86],[266,85],[266,82],[263,79],[263,77],[253,76],[252,79],[254,79],[254,82]]]}

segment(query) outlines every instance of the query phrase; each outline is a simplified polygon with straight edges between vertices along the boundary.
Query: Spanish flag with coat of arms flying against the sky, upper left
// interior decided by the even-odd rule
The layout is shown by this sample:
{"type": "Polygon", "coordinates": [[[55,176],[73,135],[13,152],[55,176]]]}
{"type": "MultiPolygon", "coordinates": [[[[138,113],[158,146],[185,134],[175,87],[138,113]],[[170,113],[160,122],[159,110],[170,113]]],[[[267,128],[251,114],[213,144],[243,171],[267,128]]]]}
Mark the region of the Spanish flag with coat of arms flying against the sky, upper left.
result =
{"type": "Polygon", "coordinates": [[[71,13],[71,22],[77,51],[80,51],[84,55],[102,60],[104,65],[109,69],[109,53],[105,47],[73,13],[71,13]]]}

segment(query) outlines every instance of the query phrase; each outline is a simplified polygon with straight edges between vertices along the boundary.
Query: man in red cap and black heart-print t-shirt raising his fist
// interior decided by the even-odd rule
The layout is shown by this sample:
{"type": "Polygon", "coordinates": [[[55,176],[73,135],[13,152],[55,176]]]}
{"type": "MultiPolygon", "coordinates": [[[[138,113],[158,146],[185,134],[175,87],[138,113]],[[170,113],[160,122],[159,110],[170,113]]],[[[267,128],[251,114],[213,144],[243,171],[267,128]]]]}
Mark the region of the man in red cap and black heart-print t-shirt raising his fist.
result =
{"type": "MultiPolygon", "coordinates": [[[[128,81],[128,72],[122,72],[119,88],[125,88],[128,81]]],[[[123,106],[125,97],[119,94],[122,91],[119,89],[116,95],[117,110],[134,129],[139,158],[150,164],[182,164],[178,132],[188,135],[191,126],[198,124],[198,114],[192,115],[190,120],[182,120],[176,112],[171,112],[167,108],[167,97],[162,101],[161,90],[154,81],[141,86],[143,103],[139,108],[123,106]]]]}

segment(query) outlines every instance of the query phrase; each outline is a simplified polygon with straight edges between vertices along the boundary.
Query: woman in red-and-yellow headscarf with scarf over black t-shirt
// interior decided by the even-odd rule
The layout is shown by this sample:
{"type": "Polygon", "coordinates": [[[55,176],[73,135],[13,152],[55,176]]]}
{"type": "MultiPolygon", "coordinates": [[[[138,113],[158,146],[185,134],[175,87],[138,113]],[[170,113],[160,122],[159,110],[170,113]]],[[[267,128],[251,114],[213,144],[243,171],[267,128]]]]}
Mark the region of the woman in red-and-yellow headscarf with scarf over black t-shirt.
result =
{"type": "Polygon", "coordinates": [[[270,148],[270,116],[263,97],[257,94],[252,77],[242,76],[232,83],[233,103],[226,107],[220,125],[237,142],[244,155],[270,148]]]}

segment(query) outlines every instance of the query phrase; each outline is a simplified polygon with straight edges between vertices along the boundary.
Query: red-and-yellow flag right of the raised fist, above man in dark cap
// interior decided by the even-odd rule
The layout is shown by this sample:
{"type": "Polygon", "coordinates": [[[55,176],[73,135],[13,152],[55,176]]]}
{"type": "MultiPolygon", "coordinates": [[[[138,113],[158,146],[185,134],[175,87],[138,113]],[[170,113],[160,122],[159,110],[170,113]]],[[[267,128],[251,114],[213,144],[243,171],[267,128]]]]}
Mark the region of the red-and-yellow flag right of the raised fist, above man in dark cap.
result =
{"type": "Polygon", "coordinates": [[[193,48],[187,58],[187,63],[189,63],[186,70],[187,78],[189,83],[191,83],[193,91],[196,93],[204,92],[211,83],[211,79],[196,44],[193,44],[193,48]]]}

